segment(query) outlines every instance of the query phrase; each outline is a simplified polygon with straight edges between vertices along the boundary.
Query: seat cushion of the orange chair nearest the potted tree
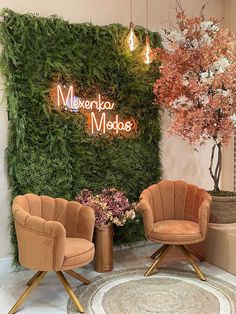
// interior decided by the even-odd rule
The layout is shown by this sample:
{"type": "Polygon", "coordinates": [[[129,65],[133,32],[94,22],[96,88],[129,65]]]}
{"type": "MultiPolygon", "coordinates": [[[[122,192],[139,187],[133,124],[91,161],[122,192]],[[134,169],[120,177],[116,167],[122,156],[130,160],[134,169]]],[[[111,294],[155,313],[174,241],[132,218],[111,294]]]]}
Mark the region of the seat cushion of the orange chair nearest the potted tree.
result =
{"type": "Polygon", "coordinates": [[[154,224],[150,240],[166,244],[190,244],[202,240],[199,225],[189,220],[162,220],[154,224]]]}

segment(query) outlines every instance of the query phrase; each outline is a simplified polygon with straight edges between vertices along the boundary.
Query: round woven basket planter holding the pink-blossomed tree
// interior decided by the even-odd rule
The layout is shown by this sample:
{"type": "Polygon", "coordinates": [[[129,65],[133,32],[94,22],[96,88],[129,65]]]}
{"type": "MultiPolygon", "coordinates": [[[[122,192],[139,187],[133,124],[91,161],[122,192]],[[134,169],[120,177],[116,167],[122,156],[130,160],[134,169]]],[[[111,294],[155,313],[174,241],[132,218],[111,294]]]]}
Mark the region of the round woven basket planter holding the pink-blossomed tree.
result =
{"type": "Polygon", "coordinates": [[[236,222],[236,196],[212,196],[210,222],[219,224],[236,222]]]}

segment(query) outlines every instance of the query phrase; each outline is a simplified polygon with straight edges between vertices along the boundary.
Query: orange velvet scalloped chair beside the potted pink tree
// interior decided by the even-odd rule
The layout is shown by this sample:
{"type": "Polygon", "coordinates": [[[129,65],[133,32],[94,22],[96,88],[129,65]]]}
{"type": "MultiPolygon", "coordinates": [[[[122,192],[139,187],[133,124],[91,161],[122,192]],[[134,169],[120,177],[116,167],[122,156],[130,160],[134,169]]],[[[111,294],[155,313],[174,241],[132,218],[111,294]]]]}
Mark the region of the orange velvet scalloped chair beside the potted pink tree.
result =
{"type": "Polygon", "coordinates": [[[145,276],[159,267],[172,246],[177,246],[197,276],[206,280],[191,256],[196,255],[195,252],[187,245],[205,240],[211,202],[211,196],[205,190],[184,181],[163,180],[142,192],[139,208],[143,213],[146,238],[164,244],[151,256],[156,260],[145,276]]]}

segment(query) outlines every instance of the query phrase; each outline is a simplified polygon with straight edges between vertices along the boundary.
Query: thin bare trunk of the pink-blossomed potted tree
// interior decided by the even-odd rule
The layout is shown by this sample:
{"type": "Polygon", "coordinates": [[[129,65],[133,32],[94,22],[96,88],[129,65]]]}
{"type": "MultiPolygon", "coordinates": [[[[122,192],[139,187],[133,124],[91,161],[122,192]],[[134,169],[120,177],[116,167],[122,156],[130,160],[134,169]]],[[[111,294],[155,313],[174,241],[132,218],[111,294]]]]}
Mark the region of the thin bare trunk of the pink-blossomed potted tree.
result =
{"type": "Polygon", "coordinates": [[[211,150],[211,162],[210,162],[210,167],[209,167],[210,175],[214,181],[214,190],[213,190],[214,192],[220,191],[219,181],[220,181],[221,169],[222,169],[222,144],[215,143],[211,150]],[[215,156],[216,148],[218,149],[217,156],[215,156]],[[213,169],[214,168],[213,163],[215,161],[215,158],[216,158],[216,164],[215,164],[215,169],[213,169]]]}

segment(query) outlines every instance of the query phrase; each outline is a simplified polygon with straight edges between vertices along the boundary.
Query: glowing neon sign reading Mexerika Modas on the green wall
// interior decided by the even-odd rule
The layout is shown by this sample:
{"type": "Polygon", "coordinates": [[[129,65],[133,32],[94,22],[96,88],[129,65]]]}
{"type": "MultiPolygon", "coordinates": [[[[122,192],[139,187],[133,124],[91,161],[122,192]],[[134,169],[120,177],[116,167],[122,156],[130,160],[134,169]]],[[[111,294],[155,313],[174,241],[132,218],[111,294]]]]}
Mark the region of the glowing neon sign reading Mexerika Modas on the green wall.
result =
{"type": "Polygon", "coordinates": [[[75,95],[74,87],[54,86],[54,106],[59,111],[82,113],[87,118],[87,132],[90,134],[110,134],[113,136],[131,136],[137,132],[137,123],[134,119],[121,119],[114,112],[115,103],[101,94],[94,99],[82,98],[75,95]],[[56,89],[56,90],[55,90],[56,89]]]}

